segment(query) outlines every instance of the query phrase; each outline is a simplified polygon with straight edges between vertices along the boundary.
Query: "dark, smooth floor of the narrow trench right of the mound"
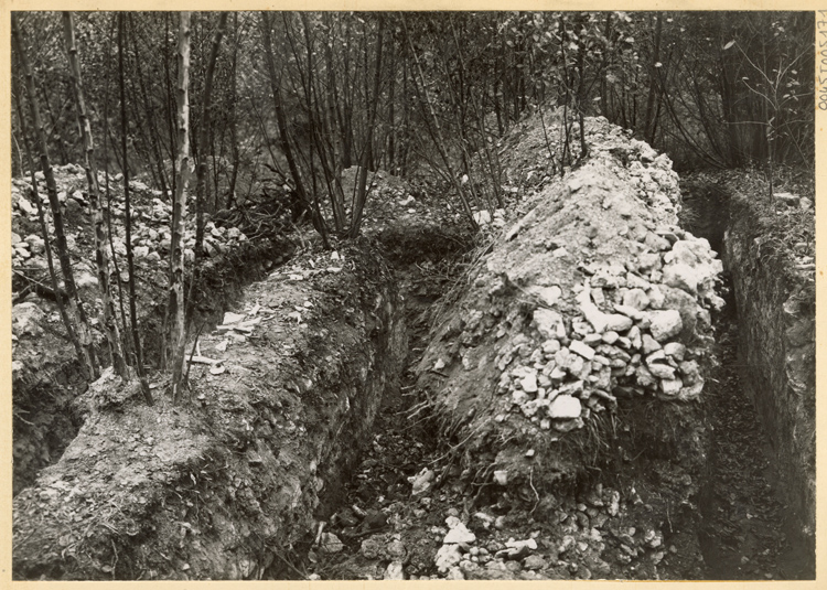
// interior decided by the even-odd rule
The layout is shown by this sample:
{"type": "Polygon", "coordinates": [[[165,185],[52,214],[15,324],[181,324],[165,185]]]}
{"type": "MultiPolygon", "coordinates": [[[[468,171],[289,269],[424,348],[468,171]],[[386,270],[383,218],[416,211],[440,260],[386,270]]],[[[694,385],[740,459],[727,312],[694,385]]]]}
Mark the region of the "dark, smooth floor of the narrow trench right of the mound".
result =
{"type": "Polygon", "coordinates": [[[707,577],[812,579],[815,556],[784,533],[785,505],[774,489],[782,483],[775,482],[765,431],[740,383],[735,322],[721,322],[721,367],[708,391],[713,436],[700,530],[707,577]]]}

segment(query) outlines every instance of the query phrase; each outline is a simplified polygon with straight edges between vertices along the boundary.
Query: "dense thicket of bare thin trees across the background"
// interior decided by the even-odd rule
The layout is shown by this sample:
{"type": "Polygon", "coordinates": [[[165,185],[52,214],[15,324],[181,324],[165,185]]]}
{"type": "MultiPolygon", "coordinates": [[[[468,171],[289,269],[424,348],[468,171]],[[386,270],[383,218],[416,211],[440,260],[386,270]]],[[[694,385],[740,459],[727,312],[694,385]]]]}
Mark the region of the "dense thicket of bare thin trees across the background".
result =
{"type": "MultiPolygon", "coordinates": [[[[473,224],[474,210],[503,203],[498,138],[537,107],[565,124],[551,173],[588,153],[580,130],[594,115],[678,169],[755,165],[772,178],[814,158],[813,13],[195,12],[186,157],[181,14],[75,14],[76,67],[66,17],[17,17],[14,88],[24,53],[52,159],[84,162],[90,138],[120,146],[96,153],[98,168],[143,175],[170,202],[185,196],[181,162],[194,167],[198,239],[201,213],[253,199],[281,200],[325,245],[355,236],[378,168],[441,183],[473,224]]],[[[24,154],[13,161],[23,172],[24,154]]]]}

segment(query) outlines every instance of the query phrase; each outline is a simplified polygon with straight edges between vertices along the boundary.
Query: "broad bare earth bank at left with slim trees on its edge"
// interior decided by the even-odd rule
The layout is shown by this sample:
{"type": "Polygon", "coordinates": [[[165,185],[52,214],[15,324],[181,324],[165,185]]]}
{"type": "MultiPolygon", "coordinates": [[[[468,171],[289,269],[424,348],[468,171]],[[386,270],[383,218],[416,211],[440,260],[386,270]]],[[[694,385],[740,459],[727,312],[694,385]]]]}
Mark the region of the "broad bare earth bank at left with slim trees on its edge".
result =
{"type": "Polygon", "coordinates": [[[77,438],[14,500],[13,577],[255,579],[301,545],[407,348],[388,268],[364,243],[339,254],[253,285],[244,340],[202,335],[224,362],[193,367],[191,404],[95,384],[77,438]]]}

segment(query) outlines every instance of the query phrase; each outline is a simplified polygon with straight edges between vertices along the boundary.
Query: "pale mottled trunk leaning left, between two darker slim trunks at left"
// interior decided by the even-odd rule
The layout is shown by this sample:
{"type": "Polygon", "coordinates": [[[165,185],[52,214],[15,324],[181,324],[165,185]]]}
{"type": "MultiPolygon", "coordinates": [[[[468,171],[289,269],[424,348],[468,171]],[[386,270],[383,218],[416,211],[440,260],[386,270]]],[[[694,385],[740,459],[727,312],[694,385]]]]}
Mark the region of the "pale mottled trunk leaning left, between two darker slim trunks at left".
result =
{"type": "Polygon", "coordinates": [[[120,345],[120,331],[115,315],[115,303],[112,301],[111,288],[109,286],[109,238],[106,235],[104,211],[100,207],[100,186],[98,185],[97,167],[95,165],[95,144],[92,138],[92,125],[86,114],[86,101],[84,97],[83,82],[80,78],[80,61],[77,57],[77,45],[75,43],[75,23],[72,12],[63,13],[63,32],[66,40],[66,53],[68,55],[69,75],[72,78],[73,96],[77,109],[77,122],[83,133],[84,141],[84,169],[86,181],[89,184],[89,206],[95,225],[95,261],[98,271],[98,288],[100,300],[104,304],[104,329],[109,343],[109,352],[112,358],[115,373],[121,377],[127,376],[127,365],[123,360],[123,351],[120,345]]]}

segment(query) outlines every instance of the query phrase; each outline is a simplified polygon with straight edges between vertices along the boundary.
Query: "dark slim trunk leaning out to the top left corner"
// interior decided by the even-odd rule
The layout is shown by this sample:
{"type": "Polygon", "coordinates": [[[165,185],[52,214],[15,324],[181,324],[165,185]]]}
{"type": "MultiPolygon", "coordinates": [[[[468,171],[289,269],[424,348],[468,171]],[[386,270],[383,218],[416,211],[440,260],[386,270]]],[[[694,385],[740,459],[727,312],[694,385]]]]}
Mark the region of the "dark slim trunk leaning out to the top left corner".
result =
{"type": "Polygon", "coordinates": [[[29,60],[26,58],[25,51],[23,49],[23,33],[20,30],[18,15],[13,12],[11,14],[11,24],[12,43],[14,44],[14,49],[17,50],[18,60],[25,78],[25,90],[29,98],[29,110],[35,128],[35,138],[37,139],[37,143],[40,147],[41,168],[46,179],[46,193],[49,195],[49,205],[52,210],[52,219],[54,223],[55,232],[55,246],[57,248],[57,259],[61,264],[63,282],[65,283],[66,294],[68,296],[67,299],[69,317],[74,320],[77,340],[82,348],[82,355],[79,360],[82,365],[88,373],[87,376],[89,377],[89,379],[96,379],[98,377],[98,365],[97,357],[95,355],[95,343],[93,341],[92,330],[86,318],[86,311],[84,310],[83,302],[80,301],[80,298],[77,293],[77,286],[75,285],[75,277],[72,271],[72,260],[69,259],[68,247],[66,245],[66,234],[63,227],[63,213],[61,212],[61,203],[57,200],[57,185],[55,183],[54,173],[52,171],[52,162],[49,159],[46,130],[43,125],[43,119],[40,116],[40,109],[37,108],[37,97],[35,96],[34,89],[34,76],[32,75],[31,67],[29,66],[29,60]]]}

